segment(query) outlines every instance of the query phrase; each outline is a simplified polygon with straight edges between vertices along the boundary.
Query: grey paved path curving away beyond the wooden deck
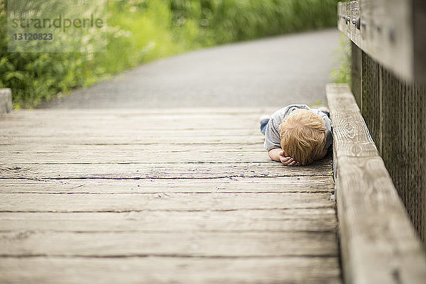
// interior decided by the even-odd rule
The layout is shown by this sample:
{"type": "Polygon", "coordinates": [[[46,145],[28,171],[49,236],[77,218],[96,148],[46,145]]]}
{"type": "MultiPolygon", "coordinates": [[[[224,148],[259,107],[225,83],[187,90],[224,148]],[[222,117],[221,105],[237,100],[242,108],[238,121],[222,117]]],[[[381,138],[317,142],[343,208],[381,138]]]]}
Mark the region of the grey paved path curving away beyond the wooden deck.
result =
{"type": "Polygon", "coordinates": [[[46,108],[281,107],[325,102],[337,29],[221,45],[156,60],[46,108]]]}

